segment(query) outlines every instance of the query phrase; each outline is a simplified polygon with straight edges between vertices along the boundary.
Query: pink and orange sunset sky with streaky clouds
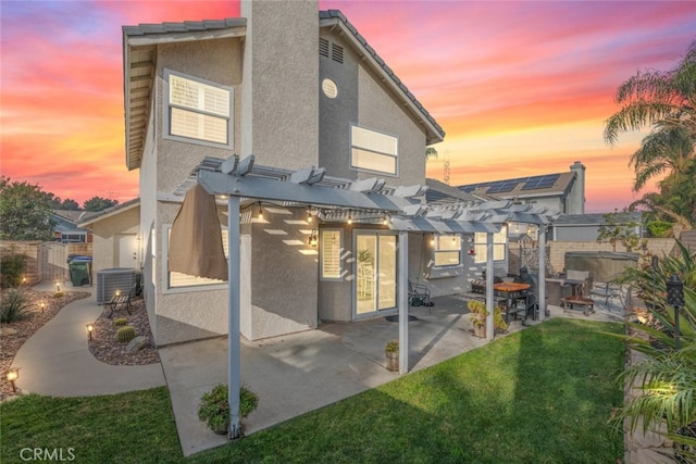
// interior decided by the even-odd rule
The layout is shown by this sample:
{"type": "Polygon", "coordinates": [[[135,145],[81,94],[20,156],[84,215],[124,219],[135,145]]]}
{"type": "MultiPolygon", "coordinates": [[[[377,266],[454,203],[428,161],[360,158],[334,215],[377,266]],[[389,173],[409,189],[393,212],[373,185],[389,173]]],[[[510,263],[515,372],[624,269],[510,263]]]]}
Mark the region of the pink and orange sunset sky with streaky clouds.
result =
{"type": "MultiPolygon", "coordinates": [[[[447,133],[451,185],[586,170],[586,211],[622,209],[647,131],[604,142],[617,87],[671,70],[696,2],[320,1],[338,9],[447,133]]],[[[233,1],[0,1],[0,172],[80,204],[138,196],[124,154],[122,25],[234,17],[233,1]]],[[[298,166],[299,167],[299,166],[298,166]]],[[[650,186],[648,189],[654,189],[650,186]]]]}

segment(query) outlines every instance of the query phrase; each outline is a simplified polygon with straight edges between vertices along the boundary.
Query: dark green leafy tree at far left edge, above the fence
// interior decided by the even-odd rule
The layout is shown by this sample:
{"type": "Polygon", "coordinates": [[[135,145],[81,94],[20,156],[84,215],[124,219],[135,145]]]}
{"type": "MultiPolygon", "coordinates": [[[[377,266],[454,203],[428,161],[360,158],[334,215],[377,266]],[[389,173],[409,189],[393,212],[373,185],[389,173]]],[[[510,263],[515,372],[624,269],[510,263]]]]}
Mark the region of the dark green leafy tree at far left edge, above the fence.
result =
{"type": "Polygon", "coordinates": [[[51,220],[46,193],[38,185],[11,181],[0,176],[0,239],[51,240],[51,220]]]}

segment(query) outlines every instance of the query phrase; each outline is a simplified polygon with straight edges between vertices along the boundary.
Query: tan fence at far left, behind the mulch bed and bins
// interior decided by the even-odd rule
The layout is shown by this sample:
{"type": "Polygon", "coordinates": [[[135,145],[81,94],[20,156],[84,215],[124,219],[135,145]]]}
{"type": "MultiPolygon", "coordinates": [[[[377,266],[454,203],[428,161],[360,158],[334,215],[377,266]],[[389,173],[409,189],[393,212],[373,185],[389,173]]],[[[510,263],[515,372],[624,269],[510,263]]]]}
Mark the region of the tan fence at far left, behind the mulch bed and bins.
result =
{"type": "Polygon", "coordinates": [[[91,256],[91,243],[0,240],[0,255],[11,253],[26,256],[27,285],[40,281],[65,281],[70,279],[67,256],[70,254],[91,256]]]}

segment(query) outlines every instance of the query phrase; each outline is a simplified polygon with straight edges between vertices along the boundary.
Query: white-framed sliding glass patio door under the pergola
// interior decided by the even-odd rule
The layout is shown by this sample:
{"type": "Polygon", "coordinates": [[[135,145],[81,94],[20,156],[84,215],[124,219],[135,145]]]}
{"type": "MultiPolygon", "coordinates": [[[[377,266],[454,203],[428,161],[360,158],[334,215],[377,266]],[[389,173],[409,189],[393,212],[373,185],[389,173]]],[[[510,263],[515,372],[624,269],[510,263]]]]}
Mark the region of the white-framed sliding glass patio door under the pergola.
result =
{"type": "Polygon", "coordinates": [[[396,308],[397,236],[356,230],[353,238],[356,315],[396,308]]]}

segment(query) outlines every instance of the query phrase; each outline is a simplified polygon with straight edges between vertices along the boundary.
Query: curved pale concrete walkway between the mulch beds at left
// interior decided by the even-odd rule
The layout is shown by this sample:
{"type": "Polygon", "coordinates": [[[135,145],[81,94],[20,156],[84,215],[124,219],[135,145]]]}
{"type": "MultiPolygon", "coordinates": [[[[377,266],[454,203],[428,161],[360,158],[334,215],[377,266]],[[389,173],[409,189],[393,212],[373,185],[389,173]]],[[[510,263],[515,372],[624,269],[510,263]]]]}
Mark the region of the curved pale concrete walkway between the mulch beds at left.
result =
{"type": "MultiPolygon", "coordinates": [[[[52,285],[36,290],[52,291],[52,285]]],[[[54,397],[92,397],[145,390],[165,385],[161,364],[113,366],[97,361],[87,346],[87,323],[103,308],[97,304],[94,287],[69,288],[89,291],[91,297],[74,301],[36,331],[16,353],[17,387],[25,393],[54,397]]]]}

